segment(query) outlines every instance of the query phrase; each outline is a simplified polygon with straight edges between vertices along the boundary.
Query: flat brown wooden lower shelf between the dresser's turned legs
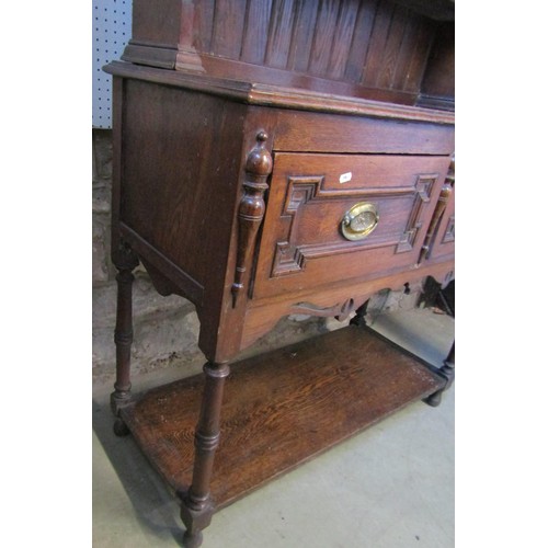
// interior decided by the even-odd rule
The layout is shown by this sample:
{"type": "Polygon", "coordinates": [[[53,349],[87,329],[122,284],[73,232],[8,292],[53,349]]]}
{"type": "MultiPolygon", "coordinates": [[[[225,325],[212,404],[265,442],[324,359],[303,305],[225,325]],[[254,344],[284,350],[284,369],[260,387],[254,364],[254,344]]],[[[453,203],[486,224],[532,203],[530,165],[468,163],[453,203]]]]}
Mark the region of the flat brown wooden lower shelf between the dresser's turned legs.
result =
{"type": "MultiPolygon", "coordinates": [[[[212,480],[216,506],[443,386],[422,361],[354,326],[233,364],[212,480]]],[[[175,491],[186,491],[191,481],[202,387],[202,375],[182,379],[146,392],[122,412],[175,491]]]]}

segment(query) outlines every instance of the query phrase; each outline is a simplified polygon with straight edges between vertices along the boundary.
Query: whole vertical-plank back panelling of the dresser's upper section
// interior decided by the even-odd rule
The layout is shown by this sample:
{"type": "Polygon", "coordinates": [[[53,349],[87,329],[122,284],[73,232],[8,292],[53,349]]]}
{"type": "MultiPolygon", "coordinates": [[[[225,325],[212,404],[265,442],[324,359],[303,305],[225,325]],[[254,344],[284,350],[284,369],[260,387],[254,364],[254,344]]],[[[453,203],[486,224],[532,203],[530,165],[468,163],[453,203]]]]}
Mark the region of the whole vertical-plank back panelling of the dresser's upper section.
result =
{"type": "Polygon", "coordinates": [[[391,0],[201,0],[193,46],[251,65],[415,93],[434,25],[391,0]]]}

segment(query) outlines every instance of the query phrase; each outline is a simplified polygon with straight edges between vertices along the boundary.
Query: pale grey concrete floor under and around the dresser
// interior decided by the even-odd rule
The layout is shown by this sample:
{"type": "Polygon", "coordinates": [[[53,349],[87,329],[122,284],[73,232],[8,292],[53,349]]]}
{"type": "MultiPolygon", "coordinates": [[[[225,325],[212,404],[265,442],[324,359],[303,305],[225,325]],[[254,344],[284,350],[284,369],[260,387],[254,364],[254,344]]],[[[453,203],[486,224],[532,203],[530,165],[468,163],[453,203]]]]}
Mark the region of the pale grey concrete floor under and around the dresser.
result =
{"type": "MultiPolygon", "coordinates": [[[[441,366],[454,320],[427,309],[372,326],[441,366]]],[[[184,374],[194,374],[185,370],[184,374]]],[[[181,377],[134,379],[134,391],[181,377]]],[[[179,507],[130,436],[112,433],[111,386],[93,395],[93,546],[182,546],[179,507]]],[[[454,388],[413,403],[214,515],[204,548],[449,548],[454,527],[454,388]]]]}

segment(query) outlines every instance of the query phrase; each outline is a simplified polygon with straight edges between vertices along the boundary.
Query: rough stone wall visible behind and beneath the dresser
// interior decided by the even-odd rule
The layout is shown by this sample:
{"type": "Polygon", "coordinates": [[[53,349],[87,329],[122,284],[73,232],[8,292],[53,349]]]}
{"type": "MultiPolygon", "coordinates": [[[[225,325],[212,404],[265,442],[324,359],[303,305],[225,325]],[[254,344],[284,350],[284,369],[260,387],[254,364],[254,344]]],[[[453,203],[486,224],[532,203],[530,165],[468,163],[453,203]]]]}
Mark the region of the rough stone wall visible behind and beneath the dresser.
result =
{"type": "MultiPolygon", "coordinates": [[[[112,185],[112,132],[93,130],[93,358],[94,381],[114,378],[114,326],[116,308],[116,270],[110,259],[110,218],[112,185]]],[[[204,362],[197,347],[199,322],[190,301],[172,295],[160,296],[141,266],[135,271],[134,283],[134,345],[133,374],[159,367],[195,366],[204,362]]],[[[421,286],[411,293],[380,292],[369,301],[368,321],[389,310],[412,308],[416,305],[421,286]]],[[[334,319],[288,317],[258,341],[243,355],[283,346],[344,326],[334,319]]]]}

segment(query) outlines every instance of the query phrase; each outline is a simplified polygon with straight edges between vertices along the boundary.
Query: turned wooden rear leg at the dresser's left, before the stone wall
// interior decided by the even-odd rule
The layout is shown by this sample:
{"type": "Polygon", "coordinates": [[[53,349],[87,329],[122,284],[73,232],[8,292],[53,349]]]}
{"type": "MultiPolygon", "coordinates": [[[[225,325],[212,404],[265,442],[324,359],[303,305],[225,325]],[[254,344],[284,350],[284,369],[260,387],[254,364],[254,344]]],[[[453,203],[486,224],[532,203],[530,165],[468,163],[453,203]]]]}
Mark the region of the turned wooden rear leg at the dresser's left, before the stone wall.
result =
{"type": "Polygon", "coordinates": [[[111,395],[111,408],[117,416],[114,423],[116,435],[125,435],[128,430],[119,418],[119,410],[129,402],[132,383],[129,367],[133,342],[133,310],[132,286],[135,279],[132,271],[137,266],[138,259],[127,246],[121,246],[113,255],[118,270],[116,282],[118,295],[116,301],[116,327],[114,329],[114,343],[116,344],[116,381],[114,392],[111,395]]]}

